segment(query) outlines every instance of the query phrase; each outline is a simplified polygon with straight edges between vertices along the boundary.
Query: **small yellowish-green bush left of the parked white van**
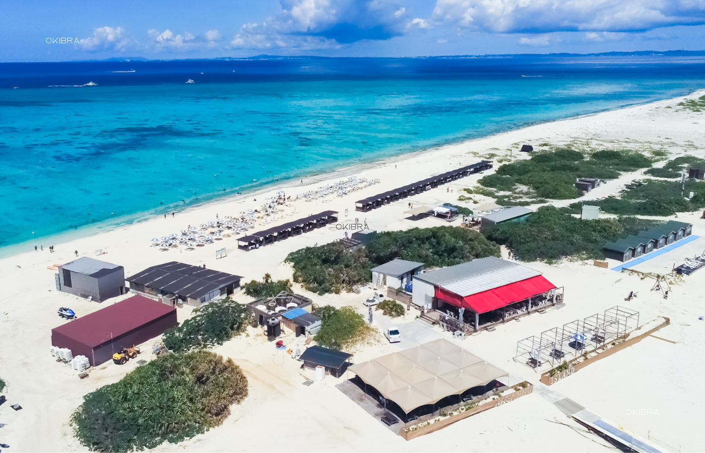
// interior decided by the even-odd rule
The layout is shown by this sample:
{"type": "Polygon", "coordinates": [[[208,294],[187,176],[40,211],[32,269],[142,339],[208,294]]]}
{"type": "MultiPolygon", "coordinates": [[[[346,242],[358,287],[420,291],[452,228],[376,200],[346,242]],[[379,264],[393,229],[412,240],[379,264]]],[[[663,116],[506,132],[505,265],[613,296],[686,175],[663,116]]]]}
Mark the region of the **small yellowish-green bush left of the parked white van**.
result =
{"type": "Polygon", "coordinates": [[[353,306],[314,306],[313,314],[321,318],[321,330],[314,341],[322,347],[351,352],[377,340],[379,332],[353,306]]]}

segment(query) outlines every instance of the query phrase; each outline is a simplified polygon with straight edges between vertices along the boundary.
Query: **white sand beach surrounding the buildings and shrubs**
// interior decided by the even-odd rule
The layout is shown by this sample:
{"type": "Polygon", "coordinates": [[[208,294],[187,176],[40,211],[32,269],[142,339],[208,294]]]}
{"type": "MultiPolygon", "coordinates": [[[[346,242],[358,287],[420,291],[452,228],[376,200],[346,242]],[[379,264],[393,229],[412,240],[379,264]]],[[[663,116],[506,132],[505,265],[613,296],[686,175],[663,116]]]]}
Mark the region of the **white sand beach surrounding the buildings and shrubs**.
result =
{"type": "MultiPolygon", "coordinates": [[[[54,271],[47,266],[72,261],[75,250],[79,256],[91,256],[124,266],[125,275],[132,275],[154,264],[183,261],[242,275],[243,283],[251,279],[259,280],[264,273],[270,273],[276,279],[291,278],[290,266],[283,263],[290,252],[331,242],[341,238],[343,233],[331,225],[251,252],[237,248],[237,236],[226,237],[192,251],[170,249],[160,252],[156,247],[149,247],[149,240],[179,232],[187,225],[200,225],[215,218],[216,214],[219,217],[232,216],[240,211],[256,209],[265,197],[271,197],[278,190],[285,190],[287,195],[293,196],[315,189],[324,182],[348,178],[350,174],[368,179],[379,178],[381,182],[344,197],[329,197],[325,201],[295,201],[293,206],[286,208],[286,216],[274,222],[284,223],[331,209],[340,213],[341,223],[360,218],[374,230],[445,225],[435,218],[404,220],[403,211],[409,202],[415,206],[450,202],[473,209],[477,204],[458,202],[458,195],[463,193],[462,188],[475,185],[482,175],[462,178],[367,213],[356,212],[355,201],[470,165],[488,153],[501,157],[509,154],[505,150],[512,149],[513,159],[526,159],[527,154],[517,151],[525,143],[534,147],[547,143],[593,149],[628,148],[644,153],[663,150],[671,159],[683,154],[704,157],[704,113],[677,106],[683,99],[694,99],[702,94],[705,90],[685,98],[533,125],[408,154],[307,178],[303,185],[273,187],[241,199],[214,201],[206,206],[177,212],[173,218],[162,216],[71,242],[57,243],[54,244],[56,252],[51,254],[47,244],[44,244],[43,251],[35,252],[32,249],[0,259],[0,284],[3,288],[0,305],[0,344],[3,345],[0,377],[8,384],[8,402],[19,403],[23,407],[20,411],[13,411],[8,404],[0,407],[0,423],[6,423],[0,428],[0,442],[11,445],[10,451],[18,452],[86,451],[73,438],[69,426],[72,412],[81,404],[83,395],[118,381],[135,367],[134,361],[123,366],[109,362],[94,368],[89,378],[80,380],[77,373],[56,362],[49,354],[51,328],[66,322],[56,316],[60,306],[70,306],[79,316],[85,316],[106,304],[129,297],[125,295],[99,304],[56,292],[54,271]],[[221,247],[226,247],[228,256],[216,260],[215,251],[221,247]]],[[[495,168],[499,165],[494,164],[495,168]]],[[[637,178],[644,178],[642,171],[609,181],[584,199],[615,194],[637,178]]],[[[553,204],[566,206],[573,201],[576,200],[553,204]]],[[[693,235],[701,237],[635,268],[640,271],[670,272],[674,263],[678,265],[683,259],[703,252],[705,220],[700,216],[701,212],[678,214],[677,218],[693,223],[693,235]]],[[[261,227],[264,229],[270,225],[275,223],[269,222],[261,227]]],[[[506,250],[504,253],[506,256],[506,250]]],[[[616,264],[611,261],[610,267],[616,264]]],[[[640,280],[637,276],[591,266],[591,263],[565,261],[556,266],[546,263],[527,263],[527,266],[543,272],[556,286],[565,287],[565,306],[549,309],[546,314],[532,314],[521,318],[521,322],[501,325],[494,332],[467,337],[458,344],[508,371],[511,384],[529,380],[540,387],[539,373],[512,359],[518,340],[615,305],[639,311],[641,323],[657,316],[666,316],[671,324],[656,335],[670,341],[648,337],[638,345],[588,366],[550,389],[620,423],[642,438],[651,435],[682,445],[684,451],[704,451],[705,438],[697,428],[697,421],[703,418],[701,408],[705,407],[705,396],[699,388],[701,376],[705,373],[701,360],[701,351],[705,349],[705,321],[698,319],[705,316],[705,271],[685,278],[685,283],[674,285],[668,299],[663,299],[661,294],[650,291],[654,280],[640,280]],[[630,291],[639,292],[639,296],[625,302],[624,298],[630,291]],[[658,414],[652,410],[649,415],[639,415],[641,412],[635,415],[634,409],[654,409],[658,414]]],[[[295,292],[304,294],[315,303],[355,305],[360,311],[364,309],[362,302],[365,297],[372,293],[372,290],[363,290],[362,294],[321,297],[303,290],[300,285],[294,287],[295,292]]],[[[240,302],[251,300],[245,294],[236,294],[235,299],[240,302]]],[[[450,338],[439,328],[430,328],[416,321],[417,314],[412,309],[403,320],[395,321],[376,314],[375,325],[380,330],[388,325],[398,325],[403,332],[413,332],[417,340],[450,338]]],[[[179,321],[189,315],[189,308],[178,309],[179,321]]],[[[372,359],[416,344],[407,341],[390,345],[380,341],[378,345],[357,352],[354,361],[372,359]]],[[[321,382],[302,385],[304,376],[312,378],[313,373],[300,370],[300,362],[278,352],[273,344],[266,342],[259,330],[249,328],[247,336],[228,341],[214,351],[231,357],[243,368],[250,382],[250,396],[243,404],[231,408],[232,414],[222,426],[178,445],[161,445],[155,451],[327,452],[334,449],[443,452],[460,448],[464,451],[489,452],[602,452],[614,449],[596,435],[585,432],[585,428],[567,418],[538,390],[503,407],[407,442],[336,389],[335,385],[343,379],[328,376],[321,382]]],[[[141,358],[149,359],[149,353],[143,353],[141,358]]]]}

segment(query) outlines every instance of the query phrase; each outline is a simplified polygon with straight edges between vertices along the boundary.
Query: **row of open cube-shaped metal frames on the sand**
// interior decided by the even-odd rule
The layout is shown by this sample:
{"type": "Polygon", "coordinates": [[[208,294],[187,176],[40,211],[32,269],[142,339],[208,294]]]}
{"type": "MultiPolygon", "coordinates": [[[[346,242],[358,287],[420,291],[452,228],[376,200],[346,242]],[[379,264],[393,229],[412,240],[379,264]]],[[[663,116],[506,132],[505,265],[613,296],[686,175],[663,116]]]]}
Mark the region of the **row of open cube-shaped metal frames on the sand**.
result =
{"type": "Polygon", "coordinates": [[[623,306],[613,306],[603,314],[594,314],[576,319],[563,326],[541,332],[537,337],[524,338],[517,342],[514,361],[522,361],[530,368],[551,368],[566,359],[575,359],[583,352],[604,347],[608,342],[625,338],[627,333],[639,327],[639,312],[623,306]]]}

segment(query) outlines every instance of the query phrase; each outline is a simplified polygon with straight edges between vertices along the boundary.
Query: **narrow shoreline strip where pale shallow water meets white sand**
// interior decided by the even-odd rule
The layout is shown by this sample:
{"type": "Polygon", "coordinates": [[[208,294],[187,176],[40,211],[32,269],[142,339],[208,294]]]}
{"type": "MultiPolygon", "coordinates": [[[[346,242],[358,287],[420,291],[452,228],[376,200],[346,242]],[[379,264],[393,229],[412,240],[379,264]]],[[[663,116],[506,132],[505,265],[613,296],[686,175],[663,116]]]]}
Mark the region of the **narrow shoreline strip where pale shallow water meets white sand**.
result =
{"type": "MultiPolygon", "coordinates": [[[[124,216],[120,216],[118,218],[115,218],[115,220],[102,221],[102,222],[95,223],[92,225],[82,225],[80,228],[77,228],[75,230],[64,230],[64,231],[54,232],[49,235],[38,236],[32,240],[25,240],[25,241],[21,241],[21,242],[6,244],[6,245],[0,247],[0,259],[11,258],[12,256],[16,256],[18,254],[22,254],[24,252],[27,252],[27,250],[32,249],[35,244],[44,245],[44,243],[46,243],[47,247],[49,246],[49,244],[54,244],[54,245],[65,244],[66,242],[72,242],[74,240],[80,240],[85,237],[92,237],[95,235],[99,235],[103,232],[110,232],[110,231],[118,230],[120,228],[129,227],[130,225],[137,225],[140,223],[144,223],[144,222],[152,220],[154,218],[159,218],[159,216],[163,216],[165,213],[168,216],[168,212],[175,212],[175,213],[179,213],[179,214],[183,215],[183,214],[191,213],[192,211],[195,211],[198,209],[203,209],[203,208],[207,208],[210,206],[215,206],[216,204],[230,204],[232,202],[245,201],[247,199],[247,197],[256,198],[256,197],[262,196],[264,194],[267,194],[271,190],[275,190],[275,189],[276,190],[285,190],[290,187],[305,188],[311,184],[321,184],[321,183],[324,183],[327,181],[336,180],[338,178],[345,178],[347,176],[354,175],[356,173],[371,170],[371,169],[374,169],[379,166],[384,166],[387,163],[398,163],[398,162],[403,161],[405,159],[409,159],[414,156],[419,156],[421,154],[431,154],[434,152],[443,151],[443,149],[447,149],[450,147],[457,147],[457,146],[462,146],[465,144],[471,144],[472,142],[477,142],[477,141],[481,141],[484,139],[499,138],[499,137],[502,137],[503,135],[506,135],[506,134],[509,134],[512,132],[520,132],[522,130],[527,130],[529,128],[534,128],[534,127],[537,127],[540,125],[558,124],[563,121],[580,120],[581,118],[589,118],[592,116],[597,116],[597,115],[600,115],[601,113],[618,112],[618,111],[625,110],[627,108],[634,108],[634,107],[638,107],[638,106],[649,106],[652,104],[658,104],[663,101],[672,101],[675,99],[681,99],[681,98],[693,96],[694,94],[699,94],[701,92],[705,93],[705,88],[695,89],[692,92],[689,92],[688,94],[685,94],[680,97],[675,97],[675,98],[666,98],[666,99],[660,99],[657,101],[627,104],[625,106],[621,106],[618,108],[606,108],[606,109],[594,111],[591,113],[584,113],[582,115],[577,115],[577,116],[568,116],[568,117],[559,118],[556,120],[536,120],[536,121],[532,121],[531,123],[521,125],[517,128],[508,128],[507,130],[503,130],[501,132],[494,132],[489,135],[482,135],[482,136],[474,137],[474,138],[458,137],[456,139],[446,140],[441,144],[432,145],[431,147],[422,147],[422,148],[412,150],[412,151],[398,151],[398,152],[389,154],[388,156],[381,158],[381,159],[372,159],[369,161],[362,161],[362,162],[353,163],[353,164],[347,163],[347,164],[343,164],[343,166],[331,168],[329,170],[314,171],[313,173],[311,173],[309,175],[303,174],[303,175],[291,176],[290,178],[273,180],[271,182],[263,183],[262,185],[259,185],[258,187],[253,187],[250,190],[245,189],[240,194],[218,195],[218,192],[215,192],[213,194],[205,194],[203,197],[199,197],[199,198],[207,198],[207,199],[205,199],[204,201],[198,201],[196,203],[188,204],[183,209],[178,209],[178,206],[172,206],[171,208],[169,206],[163,206],[163,209],[160,209],[159,207],[155,206],[154,208],[152,208],[150,210],[137,211],[132,214],[126,214],[124,216]],[[298,179],[303,180],[304,181],[303,184],[297,184],[295,182],[295,180],[298,180],[298,179]]],[[[432,176],[432,175],[429,175],[429,176],[432,176]]]]}

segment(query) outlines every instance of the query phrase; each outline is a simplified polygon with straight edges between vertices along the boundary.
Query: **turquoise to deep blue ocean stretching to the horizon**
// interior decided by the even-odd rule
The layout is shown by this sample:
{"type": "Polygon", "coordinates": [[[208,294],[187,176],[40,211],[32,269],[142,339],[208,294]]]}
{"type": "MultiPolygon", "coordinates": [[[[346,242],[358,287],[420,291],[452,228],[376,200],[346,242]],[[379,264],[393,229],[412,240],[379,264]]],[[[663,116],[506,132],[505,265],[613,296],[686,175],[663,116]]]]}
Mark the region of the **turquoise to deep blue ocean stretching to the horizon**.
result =
{"type": "Polygon", "coordinates": [[[0,63],[0,255],[703,87],[701,56],[0,63]]]}

